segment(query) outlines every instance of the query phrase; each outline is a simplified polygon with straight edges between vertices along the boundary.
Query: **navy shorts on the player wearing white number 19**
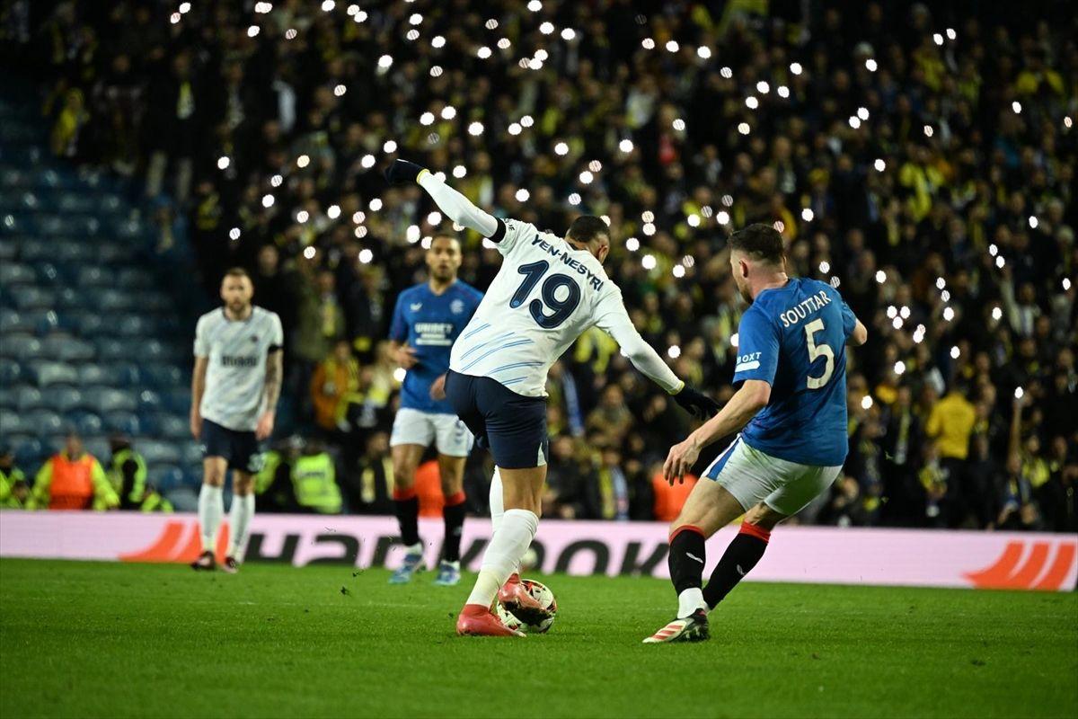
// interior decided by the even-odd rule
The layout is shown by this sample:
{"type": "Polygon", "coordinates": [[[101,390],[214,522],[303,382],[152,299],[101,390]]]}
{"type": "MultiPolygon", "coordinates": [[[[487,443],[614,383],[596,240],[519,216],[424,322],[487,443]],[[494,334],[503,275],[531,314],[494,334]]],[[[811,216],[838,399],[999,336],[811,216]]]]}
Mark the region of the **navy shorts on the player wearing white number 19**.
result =
{"type": "Polygon", "coordinates": [[[475,435],[489,447],[494,464],[506,469],[529,469],[547,464],[547,400],[524,397],[490,377],[473,377],[450,370],[445,398],[475,435]]]}

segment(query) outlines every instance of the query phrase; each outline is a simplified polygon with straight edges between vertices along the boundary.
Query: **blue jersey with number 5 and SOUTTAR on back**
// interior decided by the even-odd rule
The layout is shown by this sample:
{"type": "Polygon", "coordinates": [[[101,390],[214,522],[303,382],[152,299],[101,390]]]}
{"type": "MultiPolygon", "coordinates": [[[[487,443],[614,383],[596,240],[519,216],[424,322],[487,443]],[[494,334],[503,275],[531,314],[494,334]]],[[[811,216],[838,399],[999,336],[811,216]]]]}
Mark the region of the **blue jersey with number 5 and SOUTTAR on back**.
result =
{"type": "Polygon", "coordinates": [[[734,383],[763,379],[771,401],[742,432],[779,459],[833,467],[846,458],[846,340],[857,318],[830,285],[791,279],[742,316],[734,383]]]}

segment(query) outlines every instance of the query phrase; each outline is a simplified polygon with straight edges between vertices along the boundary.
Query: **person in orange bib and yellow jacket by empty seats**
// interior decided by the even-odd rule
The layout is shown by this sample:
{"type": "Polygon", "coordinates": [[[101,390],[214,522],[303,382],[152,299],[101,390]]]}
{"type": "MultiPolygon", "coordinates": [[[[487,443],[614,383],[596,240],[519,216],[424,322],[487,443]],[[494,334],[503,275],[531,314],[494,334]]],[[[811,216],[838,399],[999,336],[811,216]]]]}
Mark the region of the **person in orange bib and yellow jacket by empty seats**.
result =
{"type": "Polygon", "coordinates": [[[40,509],[115,509],[120,498],[101,462],[87,454],[82,438],[68,434],[64,448],[42,465],[33,481],[33,506],[40,509]]]}

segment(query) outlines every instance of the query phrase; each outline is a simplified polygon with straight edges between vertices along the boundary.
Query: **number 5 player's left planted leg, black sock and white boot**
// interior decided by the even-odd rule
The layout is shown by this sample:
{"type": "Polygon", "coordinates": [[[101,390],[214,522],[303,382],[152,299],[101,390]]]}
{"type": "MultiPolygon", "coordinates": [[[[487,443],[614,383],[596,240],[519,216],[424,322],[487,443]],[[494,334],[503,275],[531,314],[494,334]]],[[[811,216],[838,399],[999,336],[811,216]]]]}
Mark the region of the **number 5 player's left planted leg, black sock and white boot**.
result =
{"type": "Polygon", "coordinates": [[[707,604],[701,590],[704,541],[744,513],[741,503],[718,482],[701,480],[671,524],[671,581],[678,594],[677,617],[645,644],[707,639],[707,604]]]}

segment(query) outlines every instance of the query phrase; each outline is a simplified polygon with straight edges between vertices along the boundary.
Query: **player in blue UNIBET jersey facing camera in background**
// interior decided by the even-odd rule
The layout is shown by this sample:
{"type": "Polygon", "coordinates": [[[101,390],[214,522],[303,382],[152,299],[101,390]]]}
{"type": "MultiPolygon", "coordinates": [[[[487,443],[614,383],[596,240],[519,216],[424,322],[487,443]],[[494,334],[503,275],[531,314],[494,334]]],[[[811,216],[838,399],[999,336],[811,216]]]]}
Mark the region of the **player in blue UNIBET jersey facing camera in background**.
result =
{"type": "Polygon", "coordinates": [[[434,237],[427,250],[429,278],[400,293],[389,328],[391,351],[407,371],[389,440],[393,504],[401,541],[407,548],[404,563],[389,578],[393,584],[411,581],[412,575],[424,568],[415,470],[431,444],[438,448],[438,470],[445,495],[445,539],[434,583],[453,586],[460,581],[465,461],[473,438],[445,400],[444,385],[450,348],[483,299],[482,292],[457,279],[460,260],[460,243],[455,237],[434,237]]]}

